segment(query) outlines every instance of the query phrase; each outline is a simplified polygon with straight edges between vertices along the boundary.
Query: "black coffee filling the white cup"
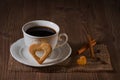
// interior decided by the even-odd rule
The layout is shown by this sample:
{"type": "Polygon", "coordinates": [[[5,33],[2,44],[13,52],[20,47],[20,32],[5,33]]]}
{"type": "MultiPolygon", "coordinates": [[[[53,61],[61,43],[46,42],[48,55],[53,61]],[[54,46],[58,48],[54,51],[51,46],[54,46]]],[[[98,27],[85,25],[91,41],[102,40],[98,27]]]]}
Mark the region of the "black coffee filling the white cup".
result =
{"type": "Polygon", "coordinates": [[[45,26],[34,26],[27,29],[26,33],[32,36],[45,37],[45,36],[54,35],[56,31],[52,28],[45,27],[45,26]]]}

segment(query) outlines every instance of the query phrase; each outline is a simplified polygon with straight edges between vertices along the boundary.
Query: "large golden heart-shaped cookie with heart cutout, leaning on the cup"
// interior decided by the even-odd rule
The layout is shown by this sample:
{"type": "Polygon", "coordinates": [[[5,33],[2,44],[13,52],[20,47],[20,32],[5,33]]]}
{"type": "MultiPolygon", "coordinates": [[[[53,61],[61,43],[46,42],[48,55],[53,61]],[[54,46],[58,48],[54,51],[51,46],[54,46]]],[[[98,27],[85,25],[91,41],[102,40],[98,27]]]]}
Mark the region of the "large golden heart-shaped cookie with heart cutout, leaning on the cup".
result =
{"type": "Polygon", "coordinates": [[[49,43],[42,42],[41,44],[32,44],[29,47],[29,52],[32,54],[33,58],[39,63],[42,64],[44,60],[48,57],[48,55],[51,53],[52,48],[49,43]],[[36,55],[36,51],[43,51],[43,55],[41,57],[38,57],[36,55]]]}

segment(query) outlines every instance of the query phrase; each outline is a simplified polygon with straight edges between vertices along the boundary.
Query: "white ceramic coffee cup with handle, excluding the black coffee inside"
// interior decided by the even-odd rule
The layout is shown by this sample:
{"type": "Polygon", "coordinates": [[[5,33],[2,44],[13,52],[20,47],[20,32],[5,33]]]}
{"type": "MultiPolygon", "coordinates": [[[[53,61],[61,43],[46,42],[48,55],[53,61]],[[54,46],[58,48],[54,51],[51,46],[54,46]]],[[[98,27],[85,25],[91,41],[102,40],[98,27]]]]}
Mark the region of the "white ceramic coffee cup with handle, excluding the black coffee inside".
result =
{"type": "Polygon", "coordinates": [[[22,27],[24,42],[28,48],[30,47],[30,45],[32,45],[34,43],[41,43],[42,41],[47,41],[51,45],[52,50],[55,48],[58,48],[60,46],[63,46],[64,44],[67,43],[68,36],[66,33],[59,34],[59,31],[60,31],[60,27],[57,24],[55,24],[51,21],[46,21],[46,20],[30,21],[30,22],[24,24],[22,27]],[[55,30],[56,33],[53,35],[50,35],[50,36],[45,36],[45,37],[33,36],[33,35],[26,33],[26,31],[29,28],[32,28],[35,26],[46,26],[46,27],[49,27],[49,28],[55,30]],[[62,39],[62,37],[64,37],[64,40],[62,39]]]}

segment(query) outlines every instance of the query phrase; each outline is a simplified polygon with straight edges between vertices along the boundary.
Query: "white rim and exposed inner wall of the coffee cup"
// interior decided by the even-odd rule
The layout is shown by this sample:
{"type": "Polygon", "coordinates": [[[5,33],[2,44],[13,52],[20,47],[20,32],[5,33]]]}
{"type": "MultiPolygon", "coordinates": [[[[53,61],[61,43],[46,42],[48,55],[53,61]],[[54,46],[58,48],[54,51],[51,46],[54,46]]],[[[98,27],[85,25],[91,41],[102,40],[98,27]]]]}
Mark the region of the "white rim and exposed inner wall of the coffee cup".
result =
{"type": "MultiPolygon", "coordinates": [[[[35,25],[34,25],[35,26],[35,25]]],[[[41,26],[41,25],[36,25],[36,26],[41,26]]],[[[33,26],[31,26],[31,27],[33,27],[33,26]]],[[[48,27],[48,26],[47,26],[48,27]]],[[[49,27],[49,28],[51,28],[51,27],[49,27]]],[[[53,28],[52,28],[53,29],[53,28]]],[[[51,22],[51,21],[47,21],[47,20],[33,20],[33,21],[29,21],[29,22],[27,22],[27,23],[25,23],[24,25],[23,25],[23,27],[22,27],[22,32],[25,34],[25,35],[27,35],[27,36],[29,36],[29,37],[34,37],[34,38],[48,38],[48,37],[52,37],[52,36],[55,36],[55,35],[57,35],[58,33],[59,33],[59,31],[60,31],[60,28],[59,28],[59,26],[56,24],[56,23],[54,23],[54,22],[51,22]],[[57,30],[55,30],[55,34],[53,34],[53,35],[50,35],[50,36],[44,36],[44,37],[40,37],[40,36],[33,36],[33,35],[30,35],[30,34],[28,34],[28,33],[26,33],[26,30],[28,30],[28,29],[26,29],[25,30],[25,27],[28,25],[30,25],[30,24],[33,24],[33,23],[38,23],[38,22],[47,22],[47,23],[49,23],[49,24],[51,24],[51,25],[54,25],[54,26],[56,26],[56,28],[57,28],[57,30]]]]}

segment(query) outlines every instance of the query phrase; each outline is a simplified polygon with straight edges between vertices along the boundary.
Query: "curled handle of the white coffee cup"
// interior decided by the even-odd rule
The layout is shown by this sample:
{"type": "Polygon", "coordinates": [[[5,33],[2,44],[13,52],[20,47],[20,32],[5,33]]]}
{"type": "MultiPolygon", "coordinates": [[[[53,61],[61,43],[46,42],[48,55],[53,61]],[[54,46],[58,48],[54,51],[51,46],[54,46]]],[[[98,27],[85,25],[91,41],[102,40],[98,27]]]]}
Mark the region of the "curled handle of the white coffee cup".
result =
{"type": "Polygon", "coordinates": [[[68,35],[66,33],[59,34],[56,48],[65,45],[67,41],[68,41],[68,35]]]}

